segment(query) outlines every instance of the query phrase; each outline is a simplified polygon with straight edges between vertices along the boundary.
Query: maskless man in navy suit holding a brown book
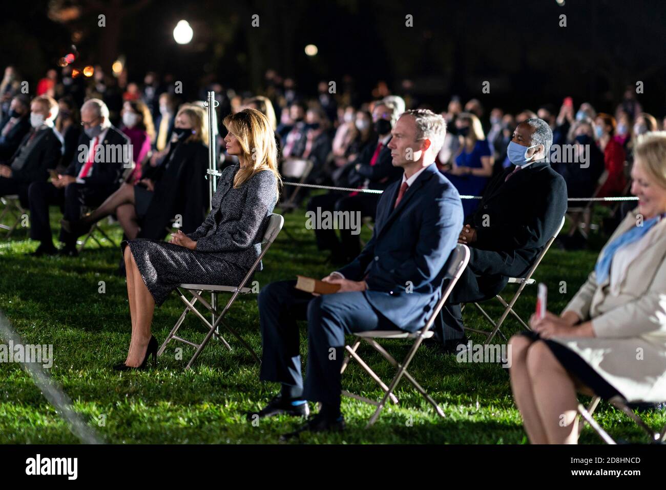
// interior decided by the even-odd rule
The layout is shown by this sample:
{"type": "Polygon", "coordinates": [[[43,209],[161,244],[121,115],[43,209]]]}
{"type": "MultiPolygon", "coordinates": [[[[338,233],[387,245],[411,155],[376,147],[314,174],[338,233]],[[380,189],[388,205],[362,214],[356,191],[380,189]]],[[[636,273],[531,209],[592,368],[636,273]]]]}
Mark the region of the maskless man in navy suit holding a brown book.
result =
{"type": "MultiPolygon", "coordinates": [[[[307,400],[322,403],[316,417],[296,431],[344,429],[340,368],[344,336],[358,331],[422,328],[440,298],[444,265],[463,223],[455,187],[434,164],[446,123],[426,109],[398,119],[388,143],[402,182],[388,187],[377,207],[372,239],[356,259],[323,280],[338,293],[313,297],[295,281],[264,287],[259,295],[263,381],[282,383],[280,395],[254,421],[280,413],[308,415],[307,400]],[[308,372],[300,373],[296,320],[308,321],[308,372]]],[[[292,435],[296,434],[292,433],[292,435]]]]}

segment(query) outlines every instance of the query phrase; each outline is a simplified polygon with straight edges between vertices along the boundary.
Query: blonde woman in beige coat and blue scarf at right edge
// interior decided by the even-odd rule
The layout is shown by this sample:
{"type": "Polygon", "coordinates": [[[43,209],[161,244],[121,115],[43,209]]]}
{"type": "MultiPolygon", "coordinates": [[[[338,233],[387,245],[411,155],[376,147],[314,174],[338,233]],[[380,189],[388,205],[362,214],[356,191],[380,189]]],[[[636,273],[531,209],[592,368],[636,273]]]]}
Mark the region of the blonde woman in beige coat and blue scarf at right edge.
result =
{"type": "Polygon", "coordinates": [[[638,207],[559,317],[511,337],[511,389],[533,444],[575,444],[576,393],[666,401],[666,132],[635,149],[638,207]]]}

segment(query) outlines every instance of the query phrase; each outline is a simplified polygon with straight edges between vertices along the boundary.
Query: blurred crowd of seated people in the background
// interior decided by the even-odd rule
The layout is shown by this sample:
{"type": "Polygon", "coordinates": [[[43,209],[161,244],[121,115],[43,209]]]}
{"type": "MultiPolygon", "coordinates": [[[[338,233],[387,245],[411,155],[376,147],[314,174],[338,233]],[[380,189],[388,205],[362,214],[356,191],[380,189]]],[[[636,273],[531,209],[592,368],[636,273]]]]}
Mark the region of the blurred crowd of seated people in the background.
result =
{"type": "MultiPolygon", "coordinates": [[[[83,137],[85,128],[80,109],[85,101],[93,99],[103,101],[108,111],[107,123],[117,127],[132,143],[134,169],[131,175],[123,176],[123,183],[153,189],[155,183],[146,181],[142,173],[147,167],[159,166],[167,157],[172,159],[173,155],[169,155],[173,153],[172,143],[178,141],[183,131],[183,124],[176,124],[179,110],[202,109],[208,91],[214,91],[218,102],[214,134],[220,168],[234,161],[225,152],[226,130],[222,119],[229,113],[252,107],[268,117],[275,131],[280,172],[285,181],[384,189],[399,178],[392,172],[386,148],[394,123],[406,109],[426,108],[440,111],[447,121],[446,141],[436,163],[461,195],[482,195],[488,181],[511,165],[507,145],[516,125],[539,117],[553,131],[551,165],[564,177],[569,197],[623,196],[629,193],[629,170],[637,137],[663,129],[666,123],[661,115],[657,119],[643,111],[634,87],[628,87],[614,110],[607,113],[597,112],[586,102],[576,106],[571,97],[564,97],[561,102],[546,101],[532,108],[535,111],[525,109],[512,114],[501,107],[484,107],[479,99],[464,101],[455,95],[448,103],[442,101],[442,106],[432,107],[416,101],[412,95],[414,87],[403,85],[401,97],[392,95],[383,82],[368,97],[363,97],[354,89],[354,80],[348,75],[338,84],[320,81],[316,91],[314,87],[306,91],[295,79],[269,70],[260,93],[236,91],[208,76],[196,91],[186,91],[190,94],[189,101],[183,99],[172,75],[160,77],[148,72],[143,79],[130,79],[126,70],[115,76],[99,66],[89,75],[77,73],[71,65],[49,69],[42,79],[27,85],[36,90],[26,93],[25,81],[17,69],[5,68],[0,82],[0,166],[11,167],[17,149],[25,143],[31,129],[43,123],[34,120],[31,100],[48,97],[57,102],[57,110],[51,113],[57,114],[52,118],[53,131],[61,140],[56,168],[67,169],[76,158],[81,139],[88,141],[83,137]],[[193,93],[196,97],[191,97],[193,93]]],[[[47,123],[48,116],[46,111],[47,123]]],[[[188,120],[186,127],[196,126],[193,133],[206,132],[205,115],[192,116],[198,117],[204,120],[189,121],[188,115],[182,119],[188,120]]],[[[202,145],[208,144],[207,136],[199,134],[195,139],[202,145]]],[[[202,160],[207,158],[203,152],[196,154],[202,160]]],[[[207,161],[199,161],[197,165],[203,168],[207,161]]],[[[6,173],[9,175],[10,171],[6,173]]],[[[183,189],[172,185],[172,191],[183,189]]],[[[309,194],[307,189],[294,190],[294,187],[285,187],[283,192],[282,201],[294,206],[309,194]]],[[[333,192],[324,199],[327,202],[314,201],[310,207],[338,209],[344,204],[351,209],[362,209],[364,216],[372,218],[376,198],[358,194],[333,192]],[[340,203],[342,198],[354,197],[353,202],[340,203]]],[[[465,214],[473,213],[477,205],[475,199],[464,200],[465,214]]],[[[318,237],[322,246],[330,239],[318,237]]],[[[354,243],[345,255],[353,256],[355,250],[354,243]]]]}

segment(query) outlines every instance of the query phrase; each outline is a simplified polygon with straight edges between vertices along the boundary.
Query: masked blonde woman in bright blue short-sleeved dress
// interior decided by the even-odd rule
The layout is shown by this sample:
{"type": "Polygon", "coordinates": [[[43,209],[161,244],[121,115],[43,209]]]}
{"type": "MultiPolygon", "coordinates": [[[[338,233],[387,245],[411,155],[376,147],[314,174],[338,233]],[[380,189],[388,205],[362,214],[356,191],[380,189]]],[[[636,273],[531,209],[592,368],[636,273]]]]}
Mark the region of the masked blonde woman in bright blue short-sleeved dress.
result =
{"type": "MultiPolygon", "coordinates": [[[[482,195],[493,174],[493,156],[476,115],[464,112],[456,118],[460,149],[451,169],[444,173],[462,195],[482,195]]],[[[465,216],[474,213],[478,199],[464,199],[465,216]]]]}

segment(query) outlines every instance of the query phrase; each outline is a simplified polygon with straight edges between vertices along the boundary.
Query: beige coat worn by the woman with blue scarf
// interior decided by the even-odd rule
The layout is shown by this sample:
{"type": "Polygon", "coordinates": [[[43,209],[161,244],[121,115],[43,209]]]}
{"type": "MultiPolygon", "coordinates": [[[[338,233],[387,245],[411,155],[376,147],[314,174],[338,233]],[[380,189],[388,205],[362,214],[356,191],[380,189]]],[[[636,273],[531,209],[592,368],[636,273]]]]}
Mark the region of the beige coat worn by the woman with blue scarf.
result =
{"type": "MultiPolygon", "coordinates": [[[[628,213],[609,242],[635,226],[636,215],[637,209],[628,213]]],[[[597,284],[593,271],[564,309],[591,319],[595,337],[552,339],[631,402],[666,401],[666,219],[649,235],[647,249],[629,263],[616,295],[609,279],[597,284]]]]}

